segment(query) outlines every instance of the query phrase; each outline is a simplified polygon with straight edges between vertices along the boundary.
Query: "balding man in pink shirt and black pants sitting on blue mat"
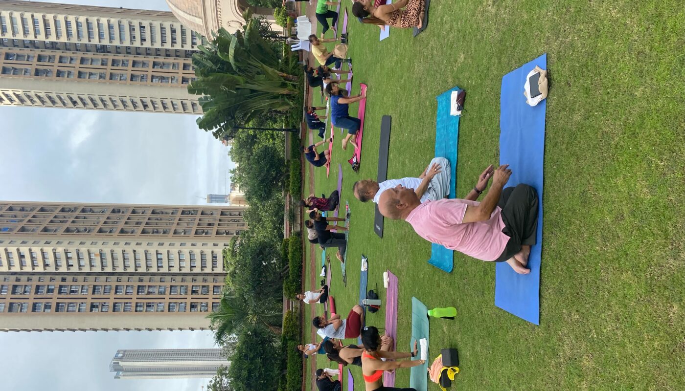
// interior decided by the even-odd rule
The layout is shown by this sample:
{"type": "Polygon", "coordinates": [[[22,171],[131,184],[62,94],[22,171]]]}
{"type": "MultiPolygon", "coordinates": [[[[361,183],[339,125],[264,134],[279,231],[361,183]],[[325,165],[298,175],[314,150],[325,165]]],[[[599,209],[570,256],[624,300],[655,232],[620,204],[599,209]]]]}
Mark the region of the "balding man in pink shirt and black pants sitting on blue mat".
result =
{"type": "Polygon", "coordinates": [[[495,170],[480,203],[475,201],[479,188],[466,199],[421,203],[413,189],[397,185],[381,194],[378,208],[383,216],[406,220],[429,242],[477,260],[507,262],[516,273],[528,274],[528,255],[538,229],[538,194],[525,184],[504,189],[512,173],[508,166],[495,170]]]}

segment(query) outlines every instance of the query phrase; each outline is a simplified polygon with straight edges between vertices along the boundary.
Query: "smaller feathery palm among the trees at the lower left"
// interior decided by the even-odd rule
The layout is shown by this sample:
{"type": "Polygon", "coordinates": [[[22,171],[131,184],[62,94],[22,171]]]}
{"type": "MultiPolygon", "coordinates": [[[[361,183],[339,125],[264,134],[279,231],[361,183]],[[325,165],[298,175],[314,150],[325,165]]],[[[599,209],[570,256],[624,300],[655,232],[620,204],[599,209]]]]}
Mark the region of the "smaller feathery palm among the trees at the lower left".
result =
{"type": "Polygon", "coordinates": [[[207,316],[210,328],[214,330],[214,341],[223,345],[232,335],[248,325],[263,325],[273,333],[281,333],[282,310],[277,302],[257,305],[251,300],[235,297],[232,293],[221,298],[221,306],[207,316]]]}

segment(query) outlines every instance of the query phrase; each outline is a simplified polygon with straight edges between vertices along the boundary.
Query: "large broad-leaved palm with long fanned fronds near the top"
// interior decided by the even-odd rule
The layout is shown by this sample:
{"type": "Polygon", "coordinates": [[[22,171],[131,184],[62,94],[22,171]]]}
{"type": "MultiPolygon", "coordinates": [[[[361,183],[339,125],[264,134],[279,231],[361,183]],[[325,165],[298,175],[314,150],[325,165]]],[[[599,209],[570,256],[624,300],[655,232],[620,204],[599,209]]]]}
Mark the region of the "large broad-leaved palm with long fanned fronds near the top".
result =
{"type": "Polygon", "coordinates": [[[188,92],[203,95],[198,101],[204,114],[197,125],[215,138],[232,134],[256,116],[285,113],[301,104],[299,78],[278,70],[281,55],[262,36],[259,19],[250,18],[244,27],[236,34],[219,29],[192,57],[197,79],[188,92]]]}

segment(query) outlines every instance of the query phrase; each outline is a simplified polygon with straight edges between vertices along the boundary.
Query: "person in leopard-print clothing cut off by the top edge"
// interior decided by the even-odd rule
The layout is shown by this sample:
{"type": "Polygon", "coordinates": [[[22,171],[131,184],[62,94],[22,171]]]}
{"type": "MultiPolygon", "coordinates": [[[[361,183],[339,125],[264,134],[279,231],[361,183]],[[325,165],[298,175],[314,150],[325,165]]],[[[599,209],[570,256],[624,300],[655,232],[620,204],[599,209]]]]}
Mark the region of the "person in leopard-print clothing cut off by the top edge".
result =
{"type": "Polygon", "coordinates": [[[399,0],[397,3],[373,6],[371,0],[355,1],[352,5],[352,14],[359,18],[362,23],[382,26],[389,25],[401,29],[410,27],[421,28],[423,25],[423,13],[425,12],[425,0],[399,0]],[[406,10],[402,10],[406,6],[406,10]]]}

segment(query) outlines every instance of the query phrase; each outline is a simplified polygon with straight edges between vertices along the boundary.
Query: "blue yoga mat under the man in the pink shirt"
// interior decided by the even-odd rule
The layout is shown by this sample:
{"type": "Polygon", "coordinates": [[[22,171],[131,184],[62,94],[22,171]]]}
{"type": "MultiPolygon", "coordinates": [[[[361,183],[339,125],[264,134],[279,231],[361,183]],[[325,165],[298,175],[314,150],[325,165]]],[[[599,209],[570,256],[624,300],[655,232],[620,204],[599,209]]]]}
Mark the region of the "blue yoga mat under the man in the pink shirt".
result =
{"type": "Polygon", "coordinates": [[[547,54],[502,77],[499,114],[499,163],[509,164],[507,186],[529,184],[538,190],[537,244],[530,250],[530,273],[520,275],[505,262],[495,267],[495,305],[536,325],[540,324],[540,253],[543,242],[543,157],[545,155],[545,108],[547,99],[535,107],[525,103],[523,84],[535,66],[547,69],[547,54]]]}

